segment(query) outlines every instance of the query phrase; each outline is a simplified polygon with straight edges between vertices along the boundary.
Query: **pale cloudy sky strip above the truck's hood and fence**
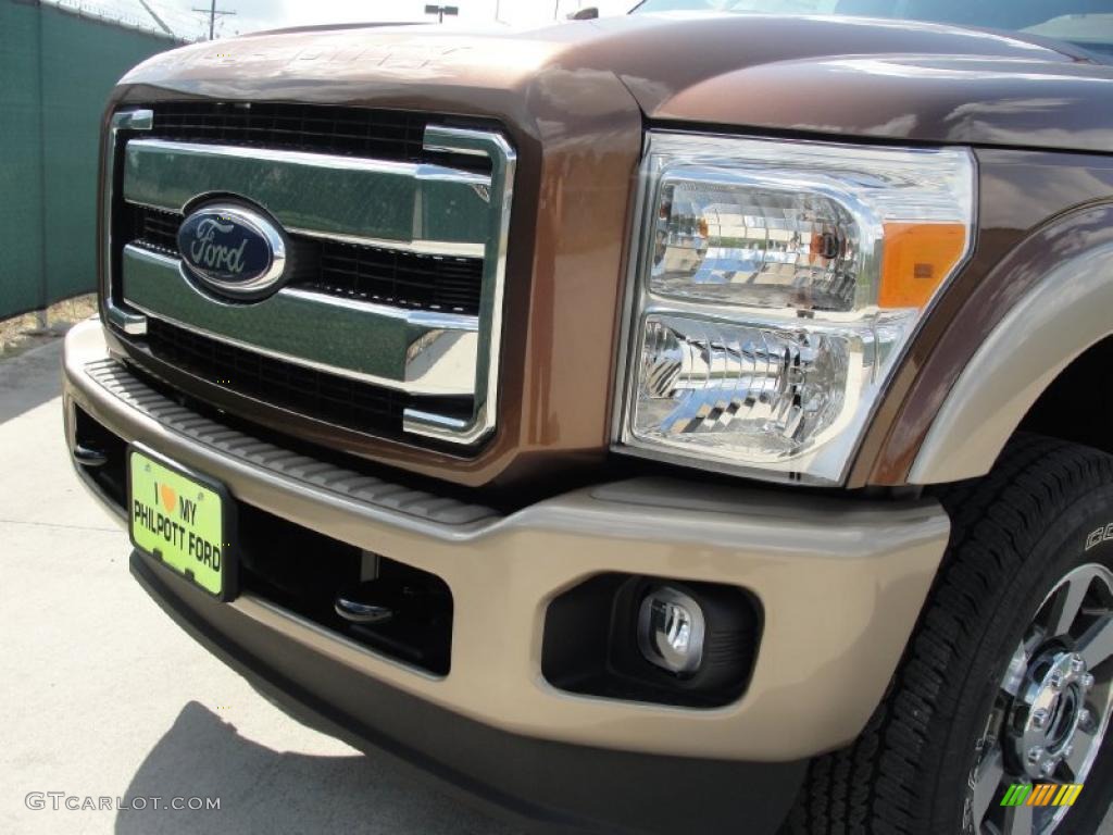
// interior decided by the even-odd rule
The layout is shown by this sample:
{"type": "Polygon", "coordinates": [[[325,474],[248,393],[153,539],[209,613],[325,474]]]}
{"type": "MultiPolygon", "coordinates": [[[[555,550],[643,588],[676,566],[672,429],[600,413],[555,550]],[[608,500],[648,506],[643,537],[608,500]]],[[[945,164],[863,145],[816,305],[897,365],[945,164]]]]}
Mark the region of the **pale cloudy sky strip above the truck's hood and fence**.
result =
{"type": "MultiPolygon", "coordinates": [[[[49,1],[49,0],[48,0],[49,1]]],[[[194,11],[209,8],[210,0],[53,0],[60,6],[77,6],[124,18],[141,26],[155,26],[145,6],[154,11],[179,37],[190,40],[208,35],[208,14],[194,11]]],[[[455,24],[491,23],[499,19],[513,24],[536,24],[563,19],[582,7],[597,6],[603,13],[622,13],[637,0],[440,0],[456,6],[455,24]]],[[[217,37],[246,35],[305,23],[354,21],[426,20],[426,0],[217,0],[217,10],[236,12],[218,16],[217,37]]]]}

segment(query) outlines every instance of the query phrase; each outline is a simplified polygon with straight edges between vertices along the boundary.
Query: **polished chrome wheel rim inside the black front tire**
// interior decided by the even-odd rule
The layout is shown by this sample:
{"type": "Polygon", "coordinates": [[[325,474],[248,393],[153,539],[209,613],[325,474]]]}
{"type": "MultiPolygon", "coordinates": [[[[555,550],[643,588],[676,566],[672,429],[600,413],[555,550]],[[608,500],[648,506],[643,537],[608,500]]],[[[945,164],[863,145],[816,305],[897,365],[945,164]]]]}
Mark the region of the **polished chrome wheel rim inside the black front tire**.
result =
{"type": "MultiPolygon", "coordinates": [[[[1085,783],[1113,708],[1113,572],[1091,563],[1052,589],[1024,632],[975,745],[966,835],[1047,835],[1071,807],[1004,806],[1009,788],[1085,783]]],[[[1057,798],[1060,789],[1050,792],[1057,798]]]]}

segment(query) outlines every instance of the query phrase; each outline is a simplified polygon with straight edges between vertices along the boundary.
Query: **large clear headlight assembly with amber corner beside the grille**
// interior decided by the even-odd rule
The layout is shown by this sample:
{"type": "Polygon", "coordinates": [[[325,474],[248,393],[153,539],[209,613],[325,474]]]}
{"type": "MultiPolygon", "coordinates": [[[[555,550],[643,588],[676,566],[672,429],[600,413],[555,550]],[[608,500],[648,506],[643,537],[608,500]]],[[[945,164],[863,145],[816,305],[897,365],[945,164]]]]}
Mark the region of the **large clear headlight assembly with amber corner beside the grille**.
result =
{"type": "Polygon", "coordinates": [[[840,483],[974,181],[959,149],[651,134],[617,449],[840,483]]]}

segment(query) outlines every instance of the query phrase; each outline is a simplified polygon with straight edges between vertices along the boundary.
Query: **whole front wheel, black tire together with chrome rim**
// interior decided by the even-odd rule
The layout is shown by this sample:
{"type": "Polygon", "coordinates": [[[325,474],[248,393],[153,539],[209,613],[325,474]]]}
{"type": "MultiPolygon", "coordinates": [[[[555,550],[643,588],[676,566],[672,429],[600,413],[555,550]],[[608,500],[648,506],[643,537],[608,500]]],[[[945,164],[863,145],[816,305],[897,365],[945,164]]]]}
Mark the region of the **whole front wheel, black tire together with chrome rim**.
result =
{"type": "Polygon", "coordinates": [[[1021,435],[937,495],[951,542],[905,658],[861,736],[811,763],[785,832],[1095,835],[1113,799],[1113,458],[1021,435]]]}

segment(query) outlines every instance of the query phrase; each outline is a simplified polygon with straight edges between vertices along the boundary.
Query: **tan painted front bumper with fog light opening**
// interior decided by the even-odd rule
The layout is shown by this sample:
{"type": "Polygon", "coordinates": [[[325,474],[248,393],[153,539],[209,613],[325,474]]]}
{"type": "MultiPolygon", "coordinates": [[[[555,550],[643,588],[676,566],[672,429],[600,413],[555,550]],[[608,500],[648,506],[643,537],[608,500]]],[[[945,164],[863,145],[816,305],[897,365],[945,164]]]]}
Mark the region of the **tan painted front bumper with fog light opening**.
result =
{"type": "Polygon", "coordinates": [[[880,701],[947,541],[947,517],[930,500],[869,503],[676,479],[601,484],[506,518],[440,524],[277,477],[174,431],[89,375],[106,356],[98,323],[70,333],[67,410],[79,403],[125,440],[221,480],[239,501],[439,574],[455,600],[452,671],[414,671],[258,598],[230,606],[370,677],[525,736],[766,762],[841,746],[880,701]],[[745,696],[693,709],[548,685],[545,607],[603,571],[752,591],[765,626],[745,696]]]}

